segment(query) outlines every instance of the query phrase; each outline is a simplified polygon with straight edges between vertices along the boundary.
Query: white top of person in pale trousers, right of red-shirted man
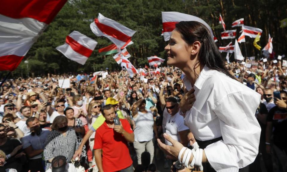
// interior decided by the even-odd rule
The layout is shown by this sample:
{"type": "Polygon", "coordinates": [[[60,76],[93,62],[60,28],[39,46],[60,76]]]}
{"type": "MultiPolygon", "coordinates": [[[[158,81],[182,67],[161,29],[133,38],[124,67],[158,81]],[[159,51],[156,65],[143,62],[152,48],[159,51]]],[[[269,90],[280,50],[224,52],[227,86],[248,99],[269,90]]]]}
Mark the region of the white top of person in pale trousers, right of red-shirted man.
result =
{"type": "Polygon", "coordinates": [[[137,117],[134,117],[135,121],[135,141],[148,142],[152,140],[153,136],[153,115],[151,110],[147,110],[147,113],[138,111],[137,117]]]}

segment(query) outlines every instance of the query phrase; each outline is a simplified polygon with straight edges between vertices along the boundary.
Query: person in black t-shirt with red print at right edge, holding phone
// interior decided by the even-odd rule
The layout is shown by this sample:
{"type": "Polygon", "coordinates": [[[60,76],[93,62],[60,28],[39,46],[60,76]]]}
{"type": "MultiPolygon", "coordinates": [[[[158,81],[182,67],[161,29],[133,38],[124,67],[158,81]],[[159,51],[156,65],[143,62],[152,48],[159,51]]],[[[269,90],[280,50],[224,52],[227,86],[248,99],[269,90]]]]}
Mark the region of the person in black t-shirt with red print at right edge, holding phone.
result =
{"type": "Polygon", "coordinates": [[[272,108],[267,116],[266,126],[266,151],[270,153],[271,145],[270,138],[273,130],[274,145],[281,150],[287,152],[287,93],[280,91],[281,100],[277,100],[282,103],[275,103],[276,106],[272,108]],[[283,104],[283,105],[282,105],[283,104]],[[283,107],[284,106],[284,107],[283,107]]]}

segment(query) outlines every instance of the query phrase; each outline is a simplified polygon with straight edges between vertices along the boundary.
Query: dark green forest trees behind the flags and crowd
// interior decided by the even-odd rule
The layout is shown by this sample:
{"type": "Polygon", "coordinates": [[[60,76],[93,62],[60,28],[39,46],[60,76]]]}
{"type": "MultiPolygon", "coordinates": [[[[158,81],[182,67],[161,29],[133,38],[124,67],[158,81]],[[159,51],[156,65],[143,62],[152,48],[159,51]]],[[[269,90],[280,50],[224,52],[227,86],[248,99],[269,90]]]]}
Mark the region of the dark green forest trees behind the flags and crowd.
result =
{"type": "MultiPolygon", "coordinates": [[[[47,73],[90,73],[101,69],[120,70],[113,56],[100,56],[98,49],[112,44],[106,37],[97,37],[90,29],[90,23],[97,18],[98,13],[113,19],[137,32],[132,37],[134,44],[127,47],[131,54],[129,60],[136,68],[148,65],[147,57],[158,56],[166,59],[164,47],[167,42],[161,36],[161,11],[177,11],[197,16],[206,21],[217,37],[216,45],[226,46],[235,39],[220,37],[223,32],[219,24],[221,13],[226,30],[237,29],[236,39],[241,27],[231,27],[231,23],[244,18],[244,24],[263,30],[259,45],[263,48],[268,42],[268,34],[273,37],[275,56],[286,54],[287,27],[280,27],[280,20],[287,18],[287,3],[285,0],[68,0],[54,21],[33,44],[13,76],[27,77],[46,75],[47,73]],[[98,42],[91,57],[85,65],[67,59],[55,48],[64,44],[65,37],[73,30],[98,42]],[[24,63],[24,61],[28,61],[24,63]],[[30,75],[31,76],[31,75],[30,75]]],[[[253,40],[246,39],[240,44],[242,55],[246,57],[262,57],[262,53],[253,46],[253,40]]],[[[222,53],[226,56],[226,53],[222,53]]],[[[233,55],[231,56],[231,60],[233,55]]],[[[165,64],[162,64],[165,65],[165,64]]]]}

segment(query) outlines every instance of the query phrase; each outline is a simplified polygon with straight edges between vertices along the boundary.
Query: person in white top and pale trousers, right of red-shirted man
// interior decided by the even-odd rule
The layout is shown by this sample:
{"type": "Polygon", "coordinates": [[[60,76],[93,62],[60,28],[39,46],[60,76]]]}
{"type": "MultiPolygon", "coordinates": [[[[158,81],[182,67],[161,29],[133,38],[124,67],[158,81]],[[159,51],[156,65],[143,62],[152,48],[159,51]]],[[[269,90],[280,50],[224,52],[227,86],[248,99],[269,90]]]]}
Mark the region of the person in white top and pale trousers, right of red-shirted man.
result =
{"type": "Polygon", "coordinates": [[[154,156],[154,145],[152,142],[153,130],[157,135],[156,125],[152,111],[146,109],[146,100],[141,98],[135,102],[132,108],[132,115],[135,121],[134,148],[138,157],[138,164],[141,164],[141,154],[146,150],[150,153],[150,163],[154,156]]]}

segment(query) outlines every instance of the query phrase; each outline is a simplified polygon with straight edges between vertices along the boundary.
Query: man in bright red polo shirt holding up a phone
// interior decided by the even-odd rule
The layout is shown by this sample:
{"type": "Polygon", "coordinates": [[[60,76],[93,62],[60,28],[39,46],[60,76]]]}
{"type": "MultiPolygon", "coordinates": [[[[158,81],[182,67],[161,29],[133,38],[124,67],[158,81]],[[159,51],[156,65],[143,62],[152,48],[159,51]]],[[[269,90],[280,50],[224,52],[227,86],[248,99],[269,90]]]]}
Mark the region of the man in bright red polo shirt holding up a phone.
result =
{"type": "Polygon", "coordinates": [[[132,172],[132,159],[127,142],[134,142],[134,133],[129,122],[120,119],[120,125],[114,124],[116,114],[113,105],[105,105],[102,114],[106,120],[97,129],[94,142],[94,155],[99,172],[132,172]]]}

